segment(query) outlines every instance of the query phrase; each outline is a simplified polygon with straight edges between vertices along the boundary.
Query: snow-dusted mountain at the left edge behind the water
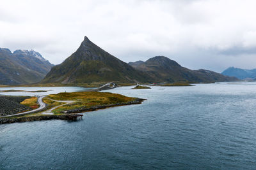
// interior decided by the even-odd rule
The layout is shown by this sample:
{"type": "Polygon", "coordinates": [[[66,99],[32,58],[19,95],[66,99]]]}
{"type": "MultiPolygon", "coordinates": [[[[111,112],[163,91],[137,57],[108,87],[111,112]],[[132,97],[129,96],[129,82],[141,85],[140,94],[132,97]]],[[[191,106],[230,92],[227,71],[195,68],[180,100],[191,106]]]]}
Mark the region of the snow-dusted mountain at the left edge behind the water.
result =
{"type": "Polygon", "coordinates": [[[37,83],[51,70],[53,65],[40,53],[33,50],[0,48],[0,84],[20,85],[37,83]]]}

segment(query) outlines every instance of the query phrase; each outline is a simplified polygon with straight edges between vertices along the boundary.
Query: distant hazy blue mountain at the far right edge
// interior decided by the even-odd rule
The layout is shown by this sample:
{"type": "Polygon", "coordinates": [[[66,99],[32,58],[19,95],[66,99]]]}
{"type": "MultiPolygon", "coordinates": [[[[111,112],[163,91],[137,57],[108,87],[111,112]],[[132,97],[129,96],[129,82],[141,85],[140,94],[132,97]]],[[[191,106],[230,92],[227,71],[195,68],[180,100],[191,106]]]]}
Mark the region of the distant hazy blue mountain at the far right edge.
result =
{"type": "Polygon", "coordinates": [[[256,78],[256,69],[239,69],[235,67],[228,67],[221,74],[226,76],[235,76],[241,80],[243,79],[252,79],[256,78]]]}

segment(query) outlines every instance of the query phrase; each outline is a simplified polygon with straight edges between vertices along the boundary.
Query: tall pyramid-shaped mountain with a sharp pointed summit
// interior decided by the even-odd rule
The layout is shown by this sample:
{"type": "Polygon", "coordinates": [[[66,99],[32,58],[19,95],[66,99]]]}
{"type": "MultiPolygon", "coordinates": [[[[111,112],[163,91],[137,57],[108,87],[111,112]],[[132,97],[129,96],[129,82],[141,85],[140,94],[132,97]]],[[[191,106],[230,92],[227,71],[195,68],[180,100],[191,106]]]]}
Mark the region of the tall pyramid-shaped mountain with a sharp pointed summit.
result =
{"type": "Polygon", "coordinates": [[[76,52],[52,67],[42,83],[136,82],[148,78],[84,37],[76,52]]]}

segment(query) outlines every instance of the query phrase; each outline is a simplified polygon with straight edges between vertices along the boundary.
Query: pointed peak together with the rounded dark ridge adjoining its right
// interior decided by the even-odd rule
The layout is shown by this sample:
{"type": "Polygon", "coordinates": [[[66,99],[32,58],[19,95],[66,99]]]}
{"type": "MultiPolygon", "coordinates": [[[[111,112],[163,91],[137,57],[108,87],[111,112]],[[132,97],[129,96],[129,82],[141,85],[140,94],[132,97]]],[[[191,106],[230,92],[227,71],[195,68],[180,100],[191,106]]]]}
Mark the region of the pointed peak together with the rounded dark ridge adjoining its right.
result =
{"type": "Polygon", "coordinates": [[[76,52],[60,65],[52,67],[41,83],[68,84],[92,83],[93,81],[200,83],[237,80],[237,78],[204,69],[187,69],[163,56],[153,57],[146,62],[137,61],[127,64],[84,37],[84,41],[76,52]]]}

